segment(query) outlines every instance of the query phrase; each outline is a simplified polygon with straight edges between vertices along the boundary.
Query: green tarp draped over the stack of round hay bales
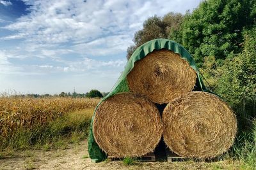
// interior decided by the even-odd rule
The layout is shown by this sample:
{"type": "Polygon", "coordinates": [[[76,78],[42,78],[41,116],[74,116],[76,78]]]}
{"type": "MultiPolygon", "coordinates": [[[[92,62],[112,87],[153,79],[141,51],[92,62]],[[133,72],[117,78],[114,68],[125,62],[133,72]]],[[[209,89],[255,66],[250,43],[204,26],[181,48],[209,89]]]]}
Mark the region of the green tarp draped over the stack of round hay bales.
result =
{"type": "MultiPolygon", "coordinates": [[[[161,50],[162,48],[165,48],[166,50],[171,50],[175,53],[179,53],[180,57],[186,59],[189,62],[189,65],[193,67],[193,69],[195,69],[197,73],[198,78],[196,80],[195,90],[209,92],[207,89],[205,89],[204,83],[200,78],[199,71],[195,65],[193,57],[183,46],[179,45],[178,43],[170,39],[154,39],[141,45],[135,50],[134,53],[132,53],[131,58],[128,60],[125,66],[124,72],[122,73],[120,78],[118,78],[118,81],[116,82],[111,92],[109,92],[108,96],[104,97],[102,101],[105,101],[106,99],[108,99],[108,97],[111,97],[117,94],[118,92],[129,92],[126,76],[134,67],[134,62],[143,59],[148,53],[153,52],[153,50],[161,50]]],[[[102,103],[102,101],[100,101],[100,103],[102,103]]],[[[97,110],[99,104],[95,108],[95,111],[97,110]]],[[[93,118],[95,117],[95,111],[93,113],[92,122],[90,124],[90,131],[88,136],[88,152],[93,162],[100,162],[106,159],[107,156],[106,153],[100,150],[99,145],[97,145],[93,136],[93,118]]]]}

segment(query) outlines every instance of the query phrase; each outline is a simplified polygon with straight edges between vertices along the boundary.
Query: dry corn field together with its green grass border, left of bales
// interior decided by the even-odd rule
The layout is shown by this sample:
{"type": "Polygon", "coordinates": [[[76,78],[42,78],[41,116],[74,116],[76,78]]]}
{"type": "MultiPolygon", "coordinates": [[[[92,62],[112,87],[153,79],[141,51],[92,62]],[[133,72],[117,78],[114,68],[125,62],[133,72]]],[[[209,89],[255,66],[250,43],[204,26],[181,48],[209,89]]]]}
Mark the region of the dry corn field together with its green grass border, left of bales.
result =
{"type": "Polygon", "coordinates": [[[87,134],[100,99],[1,97],[0,150],[77,143],[87,134]]]}

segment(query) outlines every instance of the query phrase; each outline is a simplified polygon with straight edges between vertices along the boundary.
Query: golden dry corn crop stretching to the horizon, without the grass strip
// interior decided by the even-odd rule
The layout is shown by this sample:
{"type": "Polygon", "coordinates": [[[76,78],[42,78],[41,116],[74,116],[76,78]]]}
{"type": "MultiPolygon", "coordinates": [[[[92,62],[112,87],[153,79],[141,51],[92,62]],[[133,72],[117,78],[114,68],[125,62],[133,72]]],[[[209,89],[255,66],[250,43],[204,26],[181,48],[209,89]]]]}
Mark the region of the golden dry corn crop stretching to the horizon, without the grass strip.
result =
{"type": "Polygon", "coordinates": [[[0,136],[10,135],[20,127],[31,129],[47,124],[70,111],[95,108],[97,103],[99,99],[0,97],[0,136]]]}

